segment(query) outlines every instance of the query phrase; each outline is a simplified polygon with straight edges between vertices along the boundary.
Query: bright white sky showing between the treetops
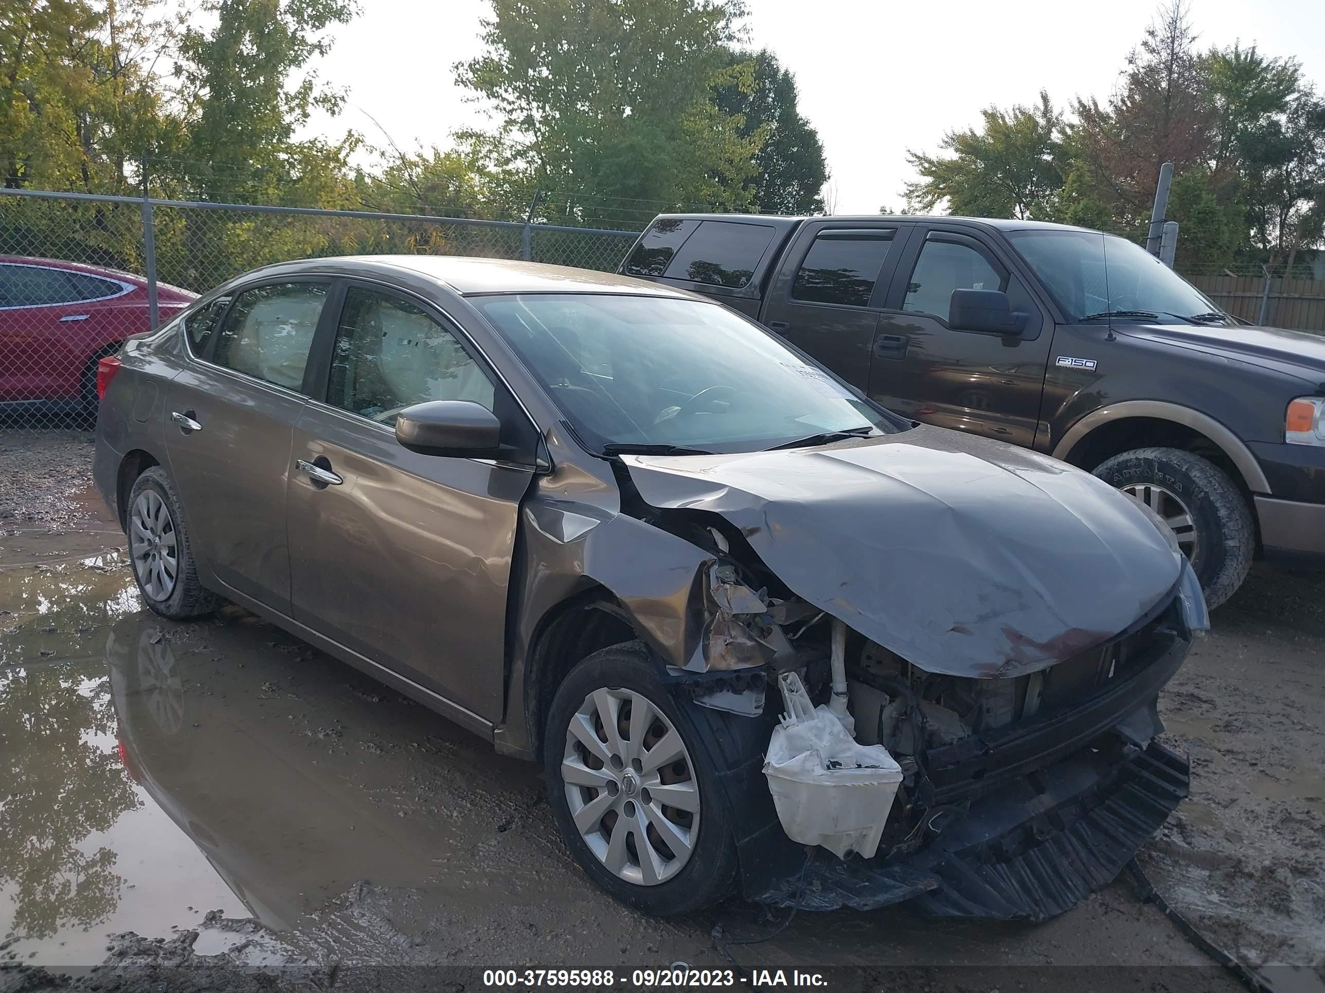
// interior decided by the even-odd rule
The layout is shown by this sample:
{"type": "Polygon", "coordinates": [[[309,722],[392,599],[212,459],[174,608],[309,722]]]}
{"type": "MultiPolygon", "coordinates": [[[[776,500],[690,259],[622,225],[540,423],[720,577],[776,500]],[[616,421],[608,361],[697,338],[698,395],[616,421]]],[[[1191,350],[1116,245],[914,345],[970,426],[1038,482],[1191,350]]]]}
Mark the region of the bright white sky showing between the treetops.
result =
{"type": "MultiPolygon", "coordinates": [[[[906,150],[933,151],[945,131],[979,122],[982,107],[1030,103],[1047,87],[1060,107],[1101,102],[1155,0],[1106,5],[1063,0],[747,0],[750,44],[771,48],[800,86],[800,109],[819,130],[836,213],[902,207],[913,179],[906,150]]],[[[481,111],[452,82],[450,66],[478,53],[485,0],[363,0],[319,65],[348,87],[337,120],[315,130],[360,131],[382,144],[376,118],[401,148],[445,146],[481,111]]],[[[1325,4],[1320,0],[1195,0],[1198,44],[1257,42],[1296,56],[1325,90],[1325,4]]]]}

